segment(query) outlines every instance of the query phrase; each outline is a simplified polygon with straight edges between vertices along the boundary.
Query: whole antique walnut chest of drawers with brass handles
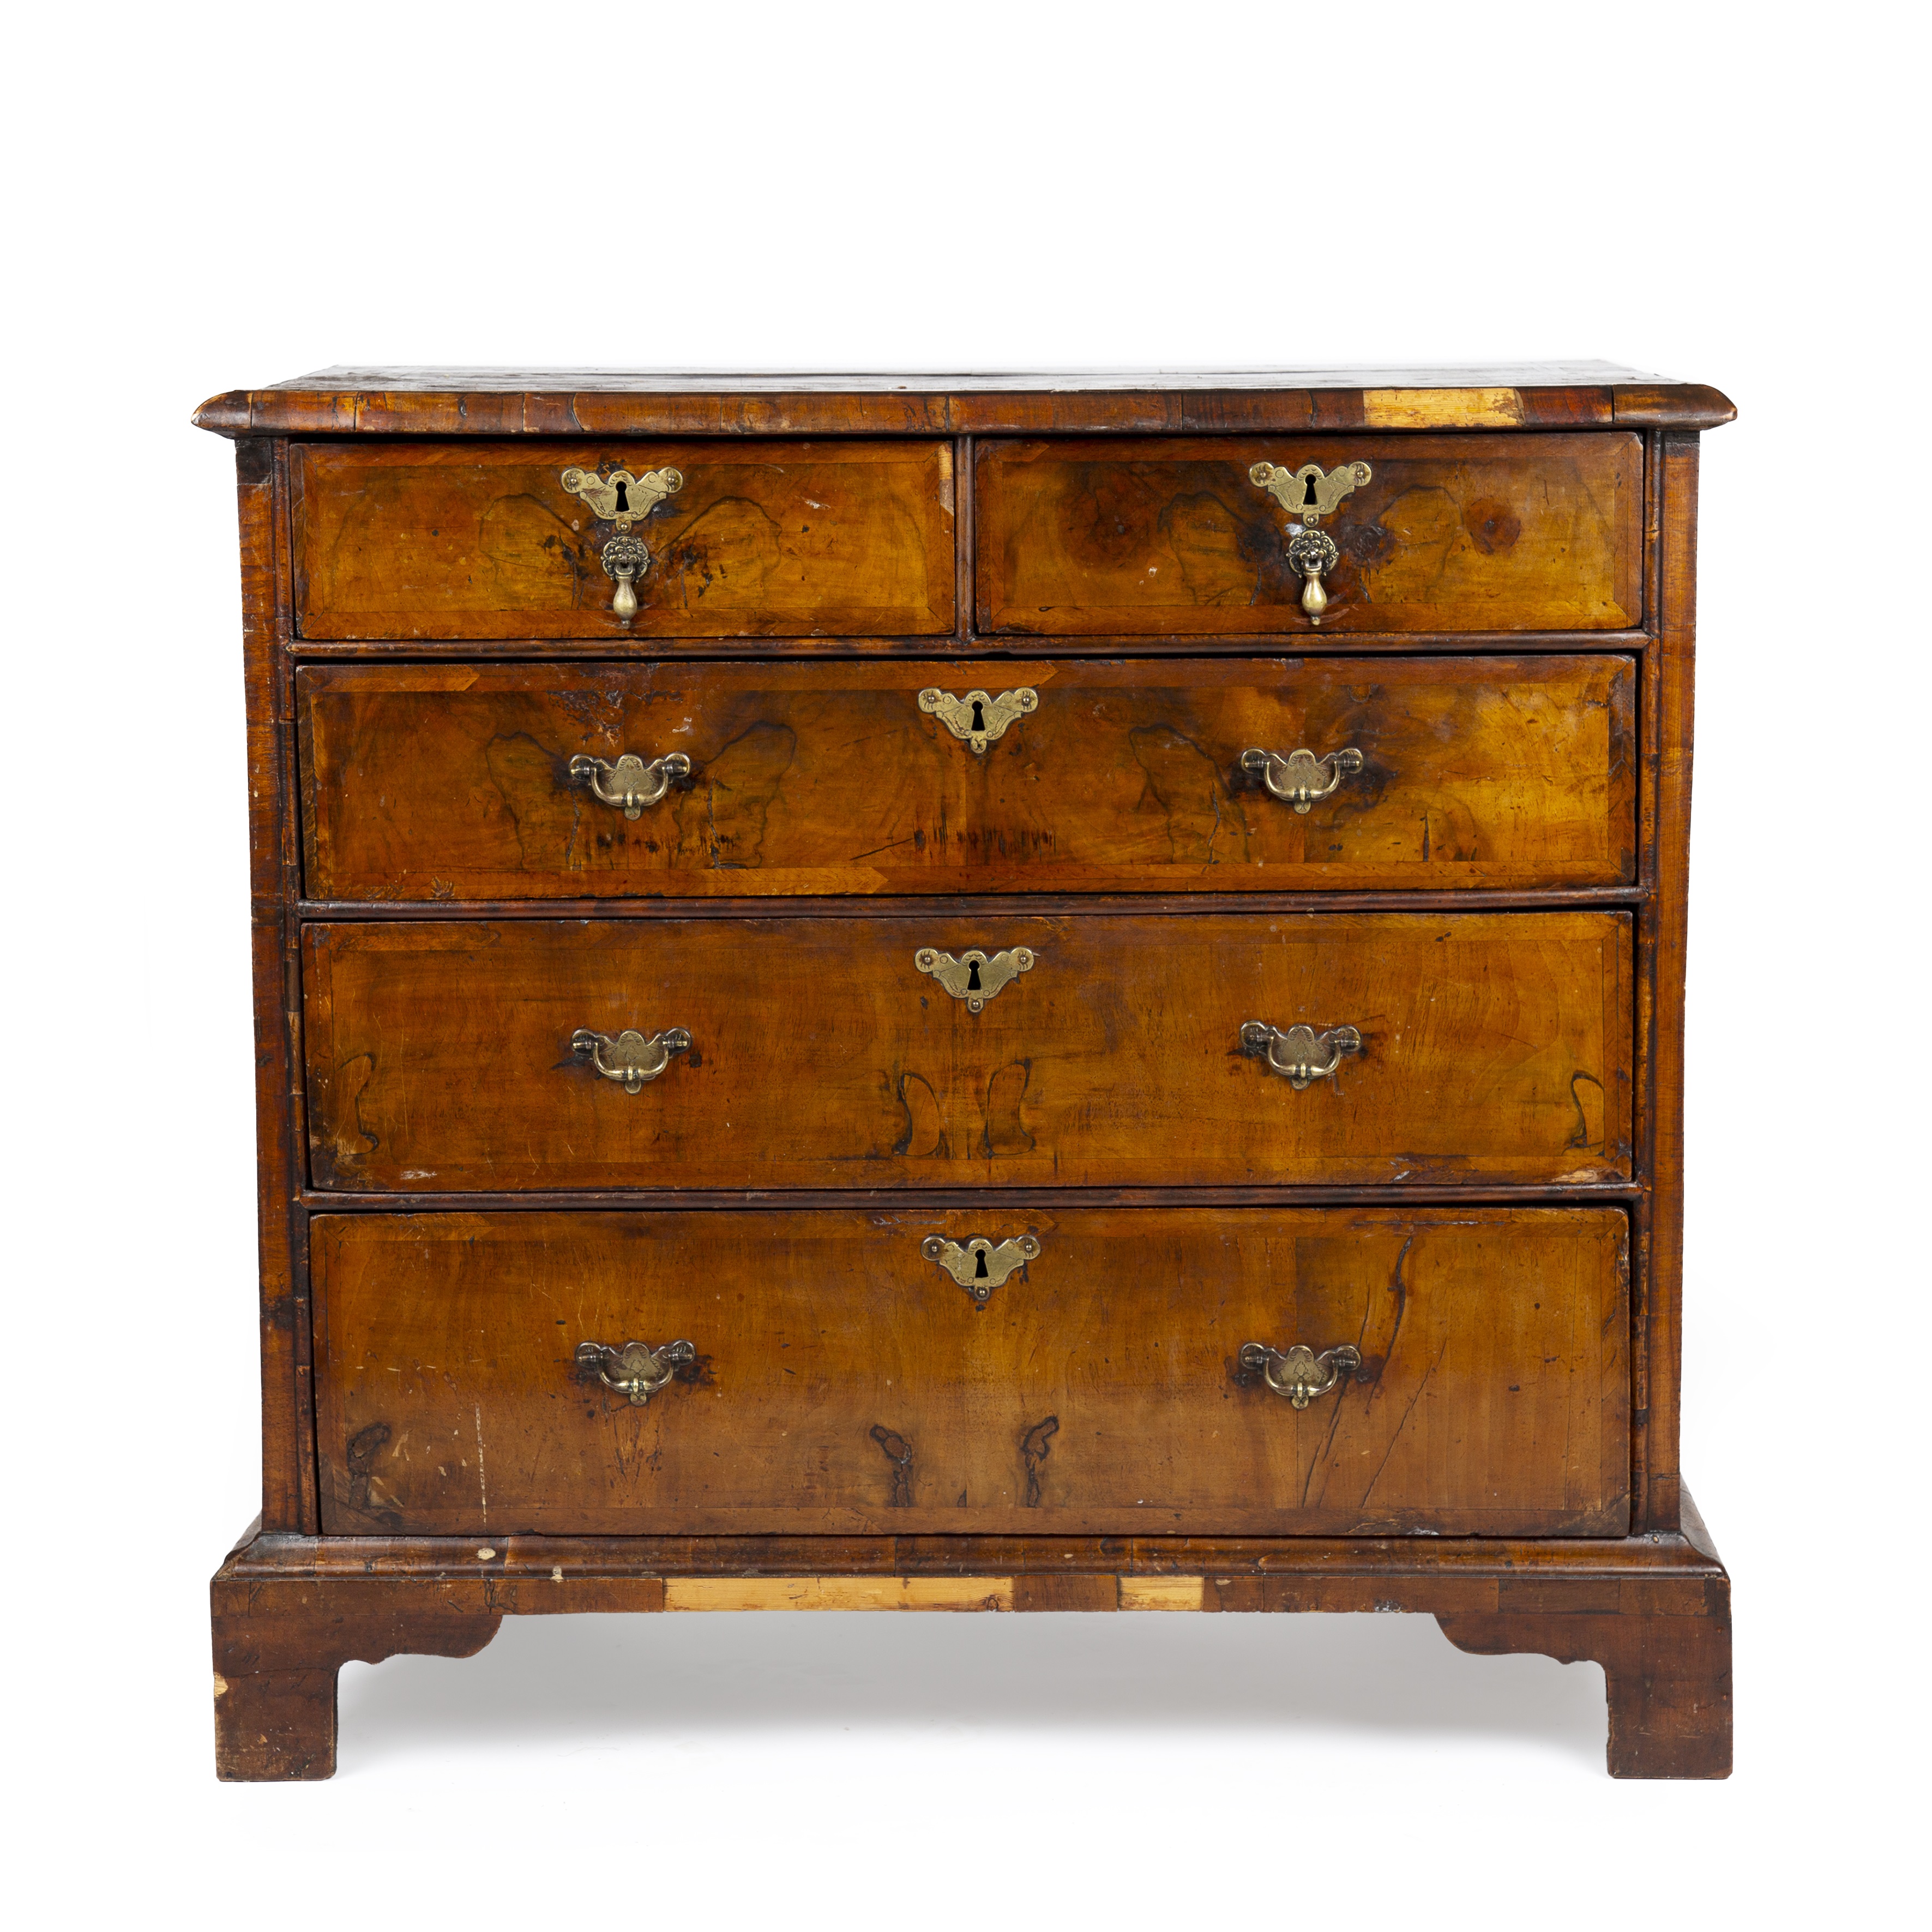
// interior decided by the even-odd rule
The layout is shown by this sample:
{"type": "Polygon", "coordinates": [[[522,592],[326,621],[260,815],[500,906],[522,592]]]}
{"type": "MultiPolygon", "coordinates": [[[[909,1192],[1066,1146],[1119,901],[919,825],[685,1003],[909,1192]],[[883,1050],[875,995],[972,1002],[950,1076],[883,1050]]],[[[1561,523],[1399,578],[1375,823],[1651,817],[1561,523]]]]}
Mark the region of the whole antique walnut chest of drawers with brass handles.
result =
{"type": "Polygon", "coordinates": [[[224,1777],[616,1609],[1434,1613],[1729,1770],[1700,431],[1602,363],[332,369],[236,439],[224,1777]]]}

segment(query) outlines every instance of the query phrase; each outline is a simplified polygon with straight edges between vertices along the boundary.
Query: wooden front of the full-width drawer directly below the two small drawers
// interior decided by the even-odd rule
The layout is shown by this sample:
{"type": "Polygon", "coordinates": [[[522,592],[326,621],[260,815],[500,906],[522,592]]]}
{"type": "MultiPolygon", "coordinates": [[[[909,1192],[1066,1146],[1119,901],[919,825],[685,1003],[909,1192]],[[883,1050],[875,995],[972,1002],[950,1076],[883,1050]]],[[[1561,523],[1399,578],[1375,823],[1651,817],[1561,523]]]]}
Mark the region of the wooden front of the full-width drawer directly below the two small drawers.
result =
{"type": "MultiPolygon", "coordinates": [[[[1607,655],[305,667],[307,889],[429,900],[1625,883],[1634,690],[1634,661],[1607,655]],[[974,750],[922,690],[960,705],[978,690],[999,736],[974,750]],[[1032,707],[1003,707],[1012,692],[1032,707]],[[1244,765],[1262,752],[1277,763],[1244,765]],[[1294,752],[1327,763],[1285,763],[1294,752]],[[630,781],[616,777],[624,755],[641,767],[630,781]]],[[[949,715],[970,734],[970,709],[949,715]]]]}

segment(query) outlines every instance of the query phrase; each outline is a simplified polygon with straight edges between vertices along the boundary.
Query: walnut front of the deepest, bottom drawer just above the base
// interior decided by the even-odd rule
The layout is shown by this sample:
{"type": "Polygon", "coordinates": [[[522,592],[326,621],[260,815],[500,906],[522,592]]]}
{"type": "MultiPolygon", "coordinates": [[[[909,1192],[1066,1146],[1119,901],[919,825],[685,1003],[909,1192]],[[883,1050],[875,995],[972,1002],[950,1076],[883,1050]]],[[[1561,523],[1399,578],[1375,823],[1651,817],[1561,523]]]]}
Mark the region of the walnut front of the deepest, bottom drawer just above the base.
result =
{"type": "Polygon", "coordinates": [[[1619,1209],[323,1215],[311,1279],[338,1534],[1629,1524],[1619,1209]]]}

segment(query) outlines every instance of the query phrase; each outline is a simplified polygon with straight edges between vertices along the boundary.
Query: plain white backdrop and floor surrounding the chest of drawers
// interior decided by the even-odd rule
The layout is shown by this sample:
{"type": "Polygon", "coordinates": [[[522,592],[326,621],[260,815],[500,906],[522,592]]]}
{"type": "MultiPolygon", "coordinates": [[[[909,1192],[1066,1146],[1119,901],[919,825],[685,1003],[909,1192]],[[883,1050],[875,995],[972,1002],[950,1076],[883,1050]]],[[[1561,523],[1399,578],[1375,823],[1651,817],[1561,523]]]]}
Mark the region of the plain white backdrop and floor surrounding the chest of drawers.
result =
{"type": "Polygon", "coordinates": [[[15,1924],[1922,1909],[1920,12],[15,21],[15,1924]],[[1683,1434],[1737,1776],[1611,1783],[1594,1665],[1428,1619],[560,1617],[350,1665],[330,1785],[216,1785],[253,1124],[234,469],[191,408],[332,361],[1565,355],[1741,412],[1704,450],[1683,1434]]]}

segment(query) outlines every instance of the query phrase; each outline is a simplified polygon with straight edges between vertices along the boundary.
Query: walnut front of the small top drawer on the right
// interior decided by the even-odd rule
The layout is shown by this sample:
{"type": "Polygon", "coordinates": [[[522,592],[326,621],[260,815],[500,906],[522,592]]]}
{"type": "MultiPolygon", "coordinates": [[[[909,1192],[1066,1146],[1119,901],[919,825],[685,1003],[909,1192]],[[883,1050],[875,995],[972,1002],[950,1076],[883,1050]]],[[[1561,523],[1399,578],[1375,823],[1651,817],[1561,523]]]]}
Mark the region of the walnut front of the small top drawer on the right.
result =
{"type": "MultiPolygon", "coordinates": [[[[1629,433],[1148,437],[978,452],[980,628],[1037,636],[1625,630],[1642,622],[1629,433]],[[1254,464],[1370,479],[1321,518],[1320,628],[1254,464]]],[[[1300,527],[1298,524],[1294,526],[1300,527]]]]}

